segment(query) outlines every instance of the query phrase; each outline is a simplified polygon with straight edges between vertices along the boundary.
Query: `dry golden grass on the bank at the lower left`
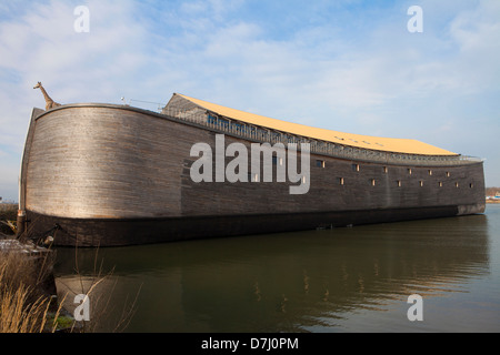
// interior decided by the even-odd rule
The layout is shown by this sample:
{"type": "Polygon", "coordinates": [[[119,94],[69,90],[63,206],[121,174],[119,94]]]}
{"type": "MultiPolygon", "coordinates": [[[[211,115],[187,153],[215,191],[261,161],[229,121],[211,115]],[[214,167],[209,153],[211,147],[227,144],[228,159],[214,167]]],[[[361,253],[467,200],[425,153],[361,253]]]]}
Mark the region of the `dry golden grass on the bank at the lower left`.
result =
{"type": "MultiPolygon", "coordinates": [[[[0,333],[68,333],[123,332],[134,311],[136,300],[123,305],[116,317],[112,293],[116,280],[112,271],[102,273],[96,252],[94,270],[81,273],[76,251],[76,275],[70,285],[59,280],[61,290],[49,290],[53,277],[54,253],[32,257],[19,251],[4,252],[0,247],[0,333]],[[48,282],[49,281],[49,282],[48,282]],[[66,288],[66,290],[64,290],[66,288]],[[56,293],[59,295],[56,296],[56,293]],[[89,296],[91,320],[77,322],[71,315],[74,295],[89,296]]],[[[53,284],[54,285],[54,284],[53,284]]],[[[59,288],[58,286],[58,288],[59,288]]]]}

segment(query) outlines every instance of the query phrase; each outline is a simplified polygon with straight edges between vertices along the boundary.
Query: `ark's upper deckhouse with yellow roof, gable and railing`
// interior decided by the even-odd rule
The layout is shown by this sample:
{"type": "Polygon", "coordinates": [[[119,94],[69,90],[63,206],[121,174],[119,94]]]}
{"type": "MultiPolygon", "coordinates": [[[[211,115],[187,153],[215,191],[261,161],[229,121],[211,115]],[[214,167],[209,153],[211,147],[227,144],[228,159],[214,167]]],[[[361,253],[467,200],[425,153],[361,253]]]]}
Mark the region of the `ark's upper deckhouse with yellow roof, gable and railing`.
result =
{"type": "Polygon", "coordinates": [[[481,162],[417,140],[343,133],[270,119],[174,93],[162,114],[257,142],[310,143],[312,153],[402,165],[481,162]]]}

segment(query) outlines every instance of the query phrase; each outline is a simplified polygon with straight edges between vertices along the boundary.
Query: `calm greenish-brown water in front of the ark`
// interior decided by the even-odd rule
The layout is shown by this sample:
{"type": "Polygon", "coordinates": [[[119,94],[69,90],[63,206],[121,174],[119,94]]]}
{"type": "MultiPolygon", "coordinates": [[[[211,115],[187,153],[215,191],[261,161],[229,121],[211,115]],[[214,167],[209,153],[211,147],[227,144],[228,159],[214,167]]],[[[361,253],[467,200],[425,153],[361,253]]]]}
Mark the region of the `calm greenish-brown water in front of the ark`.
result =
{"type": "Polygon", "coordinates": [[[500,205],[453,219],[59,248],[68,308],[100,268],[97,331],[113,331],[134,305],[127,332],[499,332],[500,205]],[[421,322],[407,317],[411,294],[422,296],[421,322]]]}

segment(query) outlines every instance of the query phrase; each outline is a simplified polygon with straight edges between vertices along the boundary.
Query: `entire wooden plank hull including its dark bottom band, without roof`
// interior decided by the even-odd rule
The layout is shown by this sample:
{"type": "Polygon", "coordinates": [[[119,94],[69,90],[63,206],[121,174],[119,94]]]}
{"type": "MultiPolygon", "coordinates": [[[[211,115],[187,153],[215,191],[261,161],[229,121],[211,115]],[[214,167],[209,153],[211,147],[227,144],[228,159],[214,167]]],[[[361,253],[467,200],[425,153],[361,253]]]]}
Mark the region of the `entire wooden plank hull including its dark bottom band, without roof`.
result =
{"type": "MultiPolygon", "coordinates": [[[[39,226],[31,233],[66,223],[64,233],[80,235],[86,245],[267,233],[484,209],[482,162],[403,166],[311,154],[310,190],[291,195],[288,182],[194,183],[190,166],[197,158],[190,150],[194,143],[208,143],[214,166],[218,132],[167,115],[123,105],[74,104],[41,114],[32,130],[24,164],[26,207],[39,226]],[[114,222],[120,232],[111,236],[106,222],[114,222]],[[149,231],[146,236],[138,227],[141,223],[167,235],[149,231]]],[[[250,152],[249,140],[229,134],[224,139],[226,145],[242,143],[250,152]]],[[[224,158],[226,164],[231,160],[224,158]]],[[[61,236],[61,244],[71,241],[61,236]]]]}

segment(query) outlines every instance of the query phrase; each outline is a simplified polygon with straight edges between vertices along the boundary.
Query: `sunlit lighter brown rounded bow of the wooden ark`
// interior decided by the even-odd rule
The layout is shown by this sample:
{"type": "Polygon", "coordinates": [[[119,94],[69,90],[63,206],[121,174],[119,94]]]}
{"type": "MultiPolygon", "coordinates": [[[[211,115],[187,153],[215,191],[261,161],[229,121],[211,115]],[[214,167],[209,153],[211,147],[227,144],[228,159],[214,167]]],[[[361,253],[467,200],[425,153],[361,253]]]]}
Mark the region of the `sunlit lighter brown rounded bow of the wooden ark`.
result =
{"type": "Polygon", "coordinates": [[[179,216],[179,156],[207,134],[132,110],[48,112],[36,124],[27,209],[78,219],[179,216]]]}

